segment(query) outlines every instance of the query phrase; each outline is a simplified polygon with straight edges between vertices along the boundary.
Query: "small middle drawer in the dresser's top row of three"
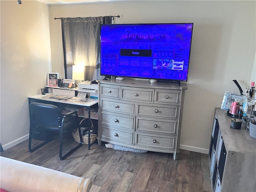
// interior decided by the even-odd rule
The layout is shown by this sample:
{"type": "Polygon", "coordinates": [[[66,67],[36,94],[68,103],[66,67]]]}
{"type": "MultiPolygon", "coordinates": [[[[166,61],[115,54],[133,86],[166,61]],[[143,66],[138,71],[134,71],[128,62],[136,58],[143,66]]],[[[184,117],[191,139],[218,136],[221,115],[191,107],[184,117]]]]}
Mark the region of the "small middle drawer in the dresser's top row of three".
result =
{"type": "Polygon", "coordinates": [[[121,87],[121,100],[153,103],[154,89],[121,87]]]}

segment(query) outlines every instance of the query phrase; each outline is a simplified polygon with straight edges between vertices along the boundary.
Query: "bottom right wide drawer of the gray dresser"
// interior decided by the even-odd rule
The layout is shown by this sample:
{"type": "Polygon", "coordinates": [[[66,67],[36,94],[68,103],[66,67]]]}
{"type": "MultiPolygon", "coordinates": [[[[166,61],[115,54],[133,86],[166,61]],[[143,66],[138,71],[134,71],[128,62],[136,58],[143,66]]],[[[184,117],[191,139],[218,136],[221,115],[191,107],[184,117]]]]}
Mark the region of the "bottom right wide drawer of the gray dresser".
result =
{"type": "Polygon", "coordinates": [[[174,150],[176,136],[159,136],[157,134],[148,134],[145,132],[136,132],[134,146],[143,146],[145,148],[161,148],[161,150],[174,150]]]}

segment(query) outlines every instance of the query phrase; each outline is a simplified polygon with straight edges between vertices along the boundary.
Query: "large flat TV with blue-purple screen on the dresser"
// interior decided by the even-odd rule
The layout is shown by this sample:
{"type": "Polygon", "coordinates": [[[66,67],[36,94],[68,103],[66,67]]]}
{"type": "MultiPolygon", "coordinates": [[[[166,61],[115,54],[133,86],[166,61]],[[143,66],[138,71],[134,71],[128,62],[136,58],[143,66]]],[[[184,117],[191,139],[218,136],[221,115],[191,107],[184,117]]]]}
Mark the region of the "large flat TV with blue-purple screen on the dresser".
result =
{"type": "Polygon", "coordinates": [[[101,24],[100,74],[187,81],[193,23],[101,24]]]}

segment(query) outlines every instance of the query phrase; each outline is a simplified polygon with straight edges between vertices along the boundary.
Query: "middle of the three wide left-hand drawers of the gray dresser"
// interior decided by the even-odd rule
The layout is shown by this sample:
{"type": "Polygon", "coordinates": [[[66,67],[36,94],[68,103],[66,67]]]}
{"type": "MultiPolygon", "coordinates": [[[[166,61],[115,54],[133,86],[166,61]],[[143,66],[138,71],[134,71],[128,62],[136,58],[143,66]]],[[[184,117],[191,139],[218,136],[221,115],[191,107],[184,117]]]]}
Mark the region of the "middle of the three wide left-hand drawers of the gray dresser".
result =
{"type": "Polygon", "coordinates": [[[106,111],[102,111],[100,115],[101,115],[100,123],[104,124],[105,126],[106,125],[115,126],[118,128],[130,129],[130,130],[134,129],[134,123],[135,123],[134,116],[110,113],[106,111]]]}

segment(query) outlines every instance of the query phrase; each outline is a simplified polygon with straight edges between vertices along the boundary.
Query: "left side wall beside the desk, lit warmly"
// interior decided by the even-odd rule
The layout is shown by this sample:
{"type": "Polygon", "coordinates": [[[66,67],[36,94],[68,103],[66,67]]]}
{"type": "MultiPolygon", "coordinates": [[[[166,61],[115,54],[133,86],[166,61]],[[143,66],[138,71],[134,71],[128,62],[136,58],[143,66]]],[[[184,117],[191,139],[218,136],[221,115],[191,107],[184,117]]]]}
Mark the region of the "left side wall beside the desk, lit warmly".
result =
{"type": "Polygon", "coordinates": [[[28,96],[39,94],[50,72],[46,4],[1,0],[0,142],[10,148],[28,139],[28,96]]]}

